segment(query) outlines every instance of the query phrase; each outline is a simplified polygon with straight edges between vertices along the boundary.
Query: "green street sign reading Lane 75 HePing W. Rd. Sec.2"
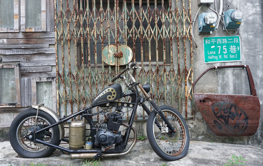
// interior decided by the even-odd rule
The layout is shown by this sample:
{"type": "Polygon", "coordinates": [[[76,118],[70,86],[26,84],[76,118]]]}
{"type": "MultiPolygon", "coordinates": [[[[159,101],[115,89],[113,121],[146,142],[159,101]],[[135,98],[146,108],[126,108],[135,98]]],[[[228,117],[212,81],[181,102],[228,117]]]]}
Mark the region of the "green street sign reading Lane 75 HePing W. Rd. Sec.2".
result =
{"type": "Polygon", "coordinates": [[[203,38],[204,63],[241,61],[240,37],[203,38]]]}

